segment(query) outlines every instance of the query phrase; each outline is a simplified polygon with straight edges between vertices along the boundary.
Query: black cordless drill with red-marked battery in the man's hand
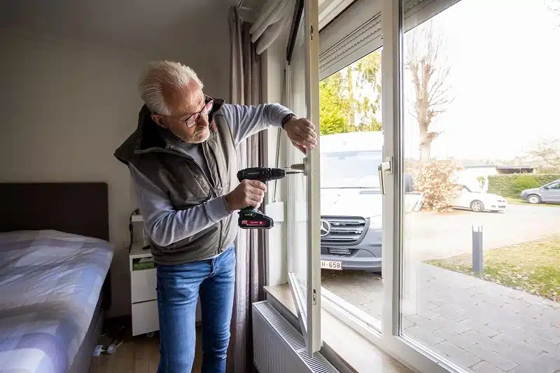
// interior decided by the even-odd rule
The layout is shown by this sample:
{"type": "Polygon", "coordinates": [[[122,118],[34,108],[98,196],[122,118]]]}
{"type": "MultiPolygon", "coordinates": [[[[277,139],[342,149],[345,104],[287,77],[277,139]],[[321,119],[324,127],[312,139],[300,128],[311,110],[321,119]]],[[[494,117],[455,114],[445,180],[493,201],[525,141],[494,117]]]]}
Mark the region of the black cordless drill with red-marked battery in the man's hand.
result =
{"type": "MultiPolygon", "coordinates": [[[[286,174],[300,174],[296,171],[286,172],[283,169],[271,169],[265,167],[251,167],[248,169],[242,169],[237,172],[237,179],[239,183],[244,180],[258,180],[261,183],[266,183],[267,181],[277,180],[279,178],[284,178],[286,174]]],[[[270,229],[274,227],[274,220],[264,213],[258,211],[252,206],[245,207],[239,211],[239,219],[237,224],[241,229],[270,229]]]]}

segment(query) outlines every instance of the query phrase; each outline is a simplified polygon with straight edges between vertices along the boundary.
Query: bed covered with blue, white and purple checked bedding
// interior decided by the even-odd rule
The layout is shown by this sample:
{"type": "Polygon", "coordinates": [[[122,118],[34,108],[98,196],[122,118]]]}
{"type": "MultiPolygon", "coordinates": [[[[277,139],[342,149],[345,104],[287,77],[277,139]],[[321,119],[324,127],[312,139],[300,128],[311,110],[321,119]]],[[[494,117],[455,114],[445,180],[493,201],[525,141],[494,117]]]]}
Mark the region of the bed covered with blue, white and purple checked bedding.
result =
{"type": "Polygon", "coordinates": [[[52,230],[0,233],[0,372],[66,372],[114,248],[52,230]]]}

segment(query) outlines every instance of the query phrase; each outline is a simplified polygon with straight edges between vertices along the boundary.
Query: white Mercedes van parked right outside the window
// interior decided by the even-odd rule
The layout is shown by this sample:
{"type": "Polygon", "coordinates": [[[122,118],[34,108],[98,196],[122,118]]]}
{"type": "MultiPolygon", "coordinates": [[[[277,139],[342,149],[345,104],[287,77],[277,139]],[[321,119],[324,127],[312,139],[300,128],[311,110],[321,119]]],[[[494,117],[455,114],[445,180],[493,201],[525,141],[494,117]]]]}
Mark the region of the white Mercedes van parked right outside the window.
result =
{"type": "Polygon", "coordinates": [[[381,132],[320,137],[321,267],[381,271],[381,132]]]}

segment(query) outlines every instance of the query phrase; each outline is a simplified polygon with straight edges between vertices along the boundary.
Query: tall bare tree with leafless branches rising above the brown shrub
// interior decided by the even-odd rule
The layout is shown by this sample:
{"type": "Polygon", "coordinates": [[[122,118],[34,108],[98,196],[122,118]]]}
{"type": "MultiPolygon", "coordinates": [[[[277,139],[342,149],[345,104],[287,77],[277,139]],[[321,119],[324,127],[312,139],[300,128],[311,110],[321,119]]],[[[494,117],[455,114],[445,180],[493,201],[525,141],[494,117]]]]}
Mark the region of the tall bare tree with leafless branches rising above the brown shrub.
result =
{"type": "Polygon", "coordinates": [[[405,69],[412,75],[416,96],[412,115],[420,129],[420,160],[426,163],[430,160],[432,142],[442,134],[430,125],[453,101],[447,81],[450,67],[442,56],[443,34],[434,27],[433,20],[408,31],[406,37],[405,69]]]}

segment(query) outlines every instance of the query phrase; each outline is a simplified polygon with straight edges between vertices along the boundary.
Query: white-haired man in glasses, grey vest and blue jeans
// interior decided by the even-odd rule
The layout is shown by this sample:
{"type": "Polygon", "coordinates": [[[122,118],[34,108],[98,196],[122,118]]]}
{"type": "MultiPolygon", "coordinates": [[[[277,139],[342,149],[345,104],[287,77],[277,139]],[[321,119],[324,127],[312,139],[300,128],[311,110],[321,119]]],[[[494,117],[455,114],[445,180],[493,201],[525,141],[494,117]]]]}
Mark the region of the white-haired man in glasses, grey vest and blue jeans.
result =
{"type": "Polygon", "coordinates": [[[260,206],[266,185],[238,183],[235,148],[251,134],[282,127],[300,150],[316,133],[279,104],[238,106],[202,92],[196,73],[153,62],[140,84],[137,130],[115,152],[132,174],[157,264],[159,373],[188,373],[202,307],[202,372],[225,372],[235,283],[233,212],[260,206]]]}

